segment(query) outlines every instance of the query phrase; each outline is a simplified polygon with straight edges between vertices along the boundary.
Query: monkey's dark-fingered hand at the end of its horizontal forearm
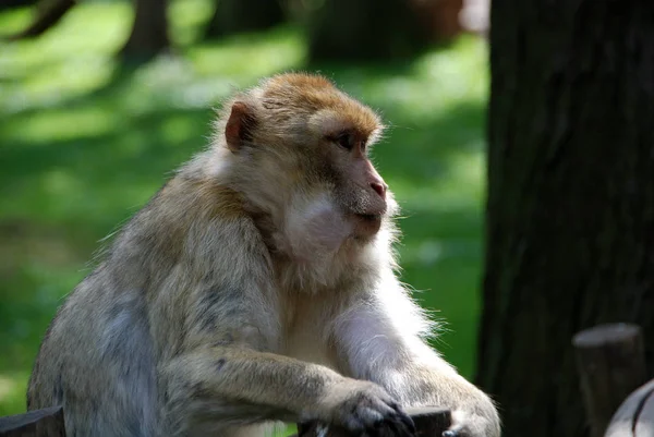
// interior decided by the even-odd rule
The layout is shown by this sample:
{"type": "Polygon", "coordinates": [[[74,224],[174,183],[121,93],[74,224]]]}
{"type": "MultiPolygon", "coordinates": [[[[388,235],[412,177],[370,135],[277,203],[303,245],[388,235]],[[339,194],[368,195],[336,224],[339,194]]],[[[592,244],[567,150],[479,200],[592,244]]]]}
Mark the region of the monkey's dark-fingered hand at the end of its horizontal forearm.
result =
{"type": "Polygon", "coordinates": [[[415,433],[411,417],[380,386],[363,380],[335,383],[319,404],[319,416],[368,436],[409,437],[415,433]]]}

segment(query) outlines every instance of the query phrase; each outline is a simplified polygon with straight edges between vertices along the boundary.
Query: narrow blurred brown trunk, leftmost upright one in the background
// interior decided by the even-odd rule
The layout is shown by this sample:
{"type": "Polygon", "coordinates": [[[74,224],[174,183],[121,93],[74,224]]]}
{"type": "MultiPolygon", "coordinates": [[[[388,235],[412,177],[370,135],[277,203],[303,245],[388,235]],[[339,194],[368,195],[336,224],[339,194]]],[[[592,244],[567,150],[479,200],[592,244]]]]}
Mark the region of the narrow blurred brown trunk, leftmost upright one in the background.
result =
{"type": "Polygon", "coordinates": [[[170,48],[166,0],[134,0],[134,24],[120,51],[126,62],[149,61],[170,48]]]}

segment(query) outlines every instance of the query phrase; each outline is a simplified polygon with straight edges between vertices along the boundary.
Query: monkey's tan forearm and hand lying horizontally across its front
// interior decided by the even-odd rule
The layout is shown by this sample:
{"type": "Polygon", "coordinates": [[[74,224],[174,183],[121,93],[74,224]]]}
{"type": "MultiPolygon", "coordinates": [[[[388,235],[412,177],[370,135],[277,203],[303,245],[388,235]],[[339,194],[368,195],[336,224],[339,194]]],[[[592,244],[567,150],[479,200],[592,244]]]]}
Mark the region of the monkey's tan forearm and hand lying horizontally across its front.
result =
{"type": "Polygon", "coordinates": [[[281,420],[320,420],[351,430],[393,422],[409,436],[411,420],[379,386],[272,353],[242,347],[199,349],[172,360],[162,372],[174,424],[239,424],[281,420]]]}

